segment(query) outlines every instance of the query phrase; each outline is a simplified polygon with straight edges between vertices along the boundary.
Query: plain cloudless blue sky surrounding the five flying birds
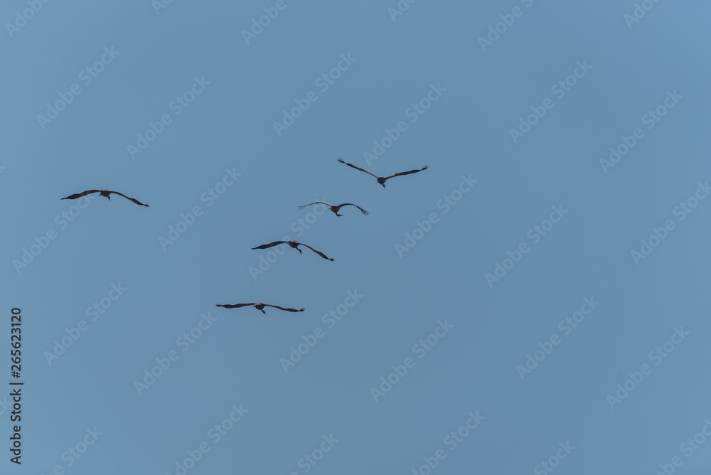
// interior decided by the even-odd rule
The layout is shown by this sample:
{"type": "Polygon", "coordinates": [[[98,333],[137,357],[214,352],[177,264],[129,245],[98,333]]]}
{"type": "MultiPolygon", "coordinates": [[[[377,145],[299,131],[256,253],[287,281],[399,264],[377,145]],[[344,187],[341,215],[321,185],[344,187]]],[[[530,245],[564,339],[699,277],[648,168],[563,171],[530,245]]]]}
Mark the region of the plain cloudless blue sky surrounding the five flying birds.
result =
{"type": "MultiPolygon", "coordinates": [[[[26,385],[23,463],[5,450],[1,471],[175,474],[206,442],[188,474],[302,474],[299,460],[333,434],[308,473],[412,474],[438,449],[433,473],[537,473],[570,442],[556,474],[656,474],[676,456],[675,473],[707,474],[711,442],[691,457],[680,446],[711,417],[711,201],[683,221],[673,210],[711,180],[711,6],[661,1],[628,28],[631,1],[423,0],[395,21],[395,0],[286,5],[249,45],[242,30],[273,1],[173,1],[159,14],[149,0],[52,1],[12,37],[5,27],[0,354],[11,380],[21,306],[26,385]],[[483,51],[478,38],[515,6],[522,16],[483,51]],[[85,85],[80,72],[112,46],[120,54],[85,85]],[[316,79],[348,54],[322,92],[316,79]],[[578,61],[592,69],[557,98],[552,85],[578,61]],[[210,84],[175,115],[196,76],[210,84]],[[80,95],[42,129],[37,115],[75,83],[80,95]],[[411,122],[433,84],[446,92],[411,122]],[[641,117],[674,90],[683,98],[646,129],[641,117]],[[309,91],[318,100],[277,136],[273,123],[309,91]],[[509,129],[546,97],[555,106],[514,144],[509,129]],[[171,124],[132,159],[127,146],[162,114],[171,124]],[[368,165],[363,153],[399,121],[407,131],[368,165]],[[636,127],[643,139],[605,174],[599,160],[636,127]],[[429,169],[383,189],[338,156],[379,175],[429,169]],[[242,176],[207,206],[225,169],[242,176]],[[445,214],[438,201],[470,174],[478,183],[445,214]],[[75,203],[59,198],[91,188],[151,207],[97,198],[60,229],[75,203]],[[370,215],[346,207],[299,230],[309,210],[296,207],[324,198],[370,215]],[[203,215],[163,250],[159,237],[194,206],[203,215]],[[534,244],[527,233],[552,206],[568,213],[534,244]],[[395,245],[430,213],[439,221],[400,257],[395,245]],[[631,251],[668,219],[675,229],[636,265],[631,251]],[[50,228],[56,238],[16,272],[50,228]],[[285,235],[336,261],[287,248],[252,278],[267,251],[250,247],[285,235]],[[530,252],[490,287],[485,274],[520,242],[530,252]],[[91,321],[87,307],[119,283],[127,290],[91,321]],[[328,328],[322,316],[356,289],[362,299],[328,328]],[[563,336],[585,297],[599,306],[563,336]],[[215,307],[249,301],[306,311],[215,307]],[[183,351],[176,339],[208,313],[183,351]],[[412,346],[445,319],[453,328],[418,358],[412,346]],[[48,364],[82,320],[87,331],[48,364]],[[279,359],[317,326],[324,338],[285,373],[279,359]],[[648,354],[681,326],[690,335],[654,365],[648,354]],[[562,343],[522,380],[516,366],[552,333],[562,343]],[[139,395],[134,382],[169,351],[178,360],[139,395]],[[375,402],[370,388],[408,357],[414,368],[375,402]],[[607,395],[643,364],[651,374],[611,409],[607,395]],[[240,404],[249,412],[215,443],[208,431],[240,404]],[[476,411],[486,419],[451,450],[445,437],[476,411]],[[69,466],[63,453],[87,427],[102,435],[69,466]]],[[[0,18],[26,8],[9,2],[0,18]]]]}

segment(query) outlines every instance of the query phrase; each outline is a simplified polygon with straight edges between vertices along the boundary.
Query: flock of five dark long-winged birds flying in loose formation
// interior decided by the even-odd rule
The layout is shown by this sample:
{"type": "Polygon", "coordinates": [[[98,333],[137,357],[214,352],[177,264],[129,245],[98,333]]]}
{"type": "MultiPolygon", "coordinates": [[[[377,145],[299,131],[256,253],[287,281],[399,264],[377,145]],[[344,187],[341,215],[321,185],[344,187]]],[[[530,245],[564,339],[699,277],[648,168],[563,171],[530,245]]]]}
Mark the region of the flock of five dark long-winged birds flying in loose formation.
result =
{"type": "MultiPolygon", "coordinates": [[[[360,171],[363,171],[364,173],[366,173],[366,174],[368,174],[368,175],[374,176],[375,179],[378,181],[378,183],[380,183],[380,185],[383,185],[383,188],[385,188],[385,182],[386,182],[387,180],[390,180],[390,178],[395,178],[396,176],[405,176],[405,175],[410,175],[410,174],[416,174],[416,173],[419,173],[420,171],[427,170],[427,165],[425,165],[424,167],[422,167],[422,169],[419,169],[419,170],[403,171],[402,173],[395,174],[395,175],[390,175],[390,176],[377,176],[377,175],[371,174],[370,171],[368,171],[368,170],[363,170],[363,169],[361,169],[361,168],[358,167],[358,166],[355,166],[355,165],[353,165],[353,164],[349,164],[348,162],[343,161],[343,159],[340,159],[340,158],[339,158],[338,161],[341,162],[342,164],[346,164],[346,165],[350,166],[350,167],[353,168],[353,169],[360,170],[360,171]]],[[[92,193],[99,193],[99,196],[105,196],[109,201],[111,201],[111,194],[114,193],[114,194],[116,194],[116,195],[118,195],[118,196],[123,196],[124,198],[126,198],[126,199],[129,200],[129,201],[133,201],[133,202],[136,203],[137,205],[145,206],[146,208],[149,206],[147,203],[146,203],[146,204],[141,203],[140,201],[138,201],[138,200],[135,199],[135,198],[129,198],[129,196],[126,196],[126,195],[124,195],[123,193],[119,193],[118,191],[111,191],[111,190],[87,190],[87,191],[84,191],[84,192],[82,192],[82,193],[75,193],[75,194],[70,195],[70,196],[65,196],[65,197],[62,198],[62,199],[63,199],[63,200],[76,200],[77,198],[81,198],[82,196],[87,196],[87,195],[90,195],[90,194],[92,194],[92,193]]],[[[319,204],[320,204],[320,205],[326,205],[326,206],[328,206],[329,208],[331,208],[331,211],[332,211],[333,214],[335,214],[336,216],[343,216],[343,215],[341,215],[341,214],[338,214],[338,211],[341,210],[341,208],[343,208],[343,206],[355,206],[355,208],[358,208],[358,209],[360,210],[360,213],[363,213],[363,214],[366,215],[366,216],[368,215],[368,211],[364,210],[363,208],[360,208],[360,206],[355,205],[355,204],[353,204],[353,203],[343,203],[343,204],[338,205],[338,206],[333,206],[333,205],[330,205],[330,204],[328,204],[328,203],[324,203],[323,201],[315,201],[314,203],[309,203],[308,205],[299,206],[298,209],[301,210],[301,209],[306,208],[306,206],[319,205],[319,204]]],[[[308,247],[310,250],[316,252],[316,254],[318,254],[319,256],[323,257],[324,259],[333,261],[333,259],[331,259],[331,257],[326,256],[323,252],[317,251],[317,250],[315,250],[313,247],[311,247],[311,246],[309,246],[309,245],[306,245],[306,244],[304,244],[303,242],[299,242],[299,241],[274,241],[274,242],[269,242],[269,244],[262,244],[261,246],[252,247],[252,250],[257,250],[257,249],[269,249],[269,247],[279,246],[279,245],[282,245],[282,244],[289,245],[289,247],[292,247],[293,249],[296,249],[297,251],[299,251],[299,254],[302,254],[302,253],[301,253],[301,249],[299,249],[299,246],[308,247]]],[[[282,307],[282,306],[270,305],[270,304],[262,304],[262,302],[252,302],[252,303],[250,303],[250,304],[233,304],[233,305],[231,305],[231,304],[227,304],[227,305],[217,304],[217,306],[222,306],[222,307],[224,307],[225,309],[239,309],[239,308],[242,307],[242,306],[250,306],[250,305],[253,306],[253,307],[255,307],[255,309],[261,311],[262,314],[265,314],[265,315],[267,314],[267,312],[264,311],[264,307],[265,307],[265,306],[272,306],[272,307],[274,307],[275,309],[284,310],[284,311],[294,311],[294,312],[296,312],[296,311],[304,311],[304,310],[305,310],[304,307],[301,307],[301,309],[299,309],[299,310],[296,310],[296,309],[284,309],[284,307],[282,307]]]]}

